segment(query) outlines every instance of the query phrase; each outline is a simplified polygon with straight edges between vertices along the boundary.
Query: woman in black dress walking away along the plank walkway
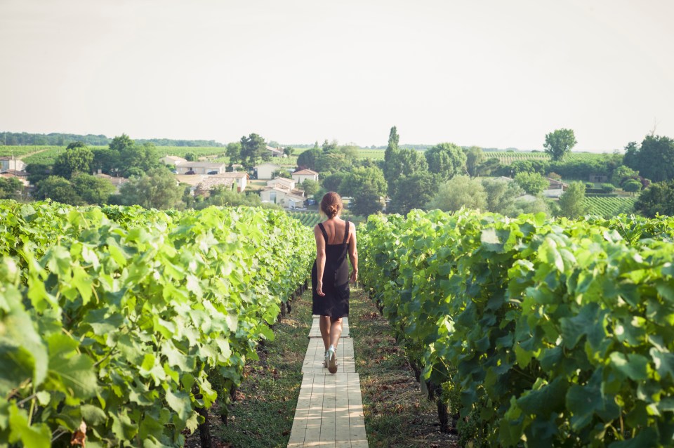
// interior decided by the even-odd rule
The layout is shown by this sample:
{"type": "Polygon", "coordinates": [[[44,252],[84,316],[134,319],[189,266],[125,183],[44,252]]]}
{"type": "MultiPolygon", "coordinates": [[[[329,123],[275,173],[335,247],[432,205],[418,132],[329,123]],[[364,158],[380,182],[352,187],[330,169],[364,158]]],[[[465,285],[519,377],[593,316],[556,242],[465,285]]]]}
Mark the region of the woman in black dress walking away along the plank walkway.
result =
{"type": "Polygon", "coordinates": [[[321,211],[327,217],[314,228],[316,261],[311,270],[312,310],[320,315],[320,329],[325,345],[323,367],[337,372],[336,349],[342,334],[342,317],[349,315],[349,282],[358,279],[356,229],[339,217],[342,198],[329,192],[321,200],[321,211]],[[353,270],[349,276],[351,259],[353,270]]]}

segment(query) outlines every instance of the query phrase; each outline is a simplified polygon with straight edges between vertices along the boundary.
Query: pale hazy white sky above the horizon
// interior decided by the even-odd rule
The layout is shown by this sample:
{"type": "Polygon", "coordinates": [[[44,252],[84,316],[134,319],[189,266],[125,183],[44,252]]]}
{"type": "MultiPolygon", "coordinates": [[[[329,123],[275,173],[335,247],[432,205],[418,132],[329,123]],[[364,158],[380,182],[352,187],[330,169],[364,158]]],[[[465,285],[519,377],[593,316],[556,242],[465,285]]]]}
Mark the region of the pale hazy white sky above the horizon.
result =
{"type": "Polygon", "coordinates": [[[673,0],[0,0],[0,131],[674,137],[673,0]]]}

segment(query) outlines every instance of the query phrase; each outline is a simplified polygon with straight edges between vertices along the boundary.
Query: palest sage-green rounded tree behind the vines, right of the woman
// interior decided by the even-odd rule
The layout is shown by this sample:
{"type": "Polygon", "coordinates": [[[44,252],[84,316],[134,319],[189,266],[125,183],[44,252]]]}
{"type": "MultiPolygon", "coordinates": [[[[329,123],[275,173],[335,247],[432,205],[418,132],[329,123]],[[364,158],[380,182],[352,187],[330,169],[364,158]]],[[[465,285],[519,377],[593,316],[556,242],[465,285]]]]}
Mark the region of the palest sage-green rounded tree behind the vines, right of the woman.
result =
{"type": "Polygon", "coordinates": [[[457,211],[466,209],[480,209],[487,207],[487,193],[479,179],[468,176],[454,176],[442,183],[435,197],[429,202],[429,209],[442,211],[457,211]]]}

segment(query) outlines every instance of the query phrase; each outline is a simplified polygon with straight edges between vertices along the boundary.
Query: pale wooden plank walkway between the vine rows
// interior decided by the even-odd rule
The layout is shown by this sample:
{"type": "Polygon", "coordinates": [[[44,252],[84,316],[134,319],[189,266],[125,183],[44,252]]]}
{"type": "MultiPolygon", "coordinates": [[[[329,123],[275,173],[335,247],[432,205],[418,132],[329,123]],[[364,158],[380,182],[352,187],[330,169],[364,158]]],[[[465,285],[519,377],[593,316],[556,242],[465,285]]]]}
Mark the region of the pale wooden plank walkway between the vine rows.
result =
{"type": "Polygon", "coordinates": [[[323,367],[325,352],[318,317],[314,317],[288,447],[367,447],[360,378],[355,373],[348,318],[343,319],[342,325],[337,373],[330,374],[323,367]]]}

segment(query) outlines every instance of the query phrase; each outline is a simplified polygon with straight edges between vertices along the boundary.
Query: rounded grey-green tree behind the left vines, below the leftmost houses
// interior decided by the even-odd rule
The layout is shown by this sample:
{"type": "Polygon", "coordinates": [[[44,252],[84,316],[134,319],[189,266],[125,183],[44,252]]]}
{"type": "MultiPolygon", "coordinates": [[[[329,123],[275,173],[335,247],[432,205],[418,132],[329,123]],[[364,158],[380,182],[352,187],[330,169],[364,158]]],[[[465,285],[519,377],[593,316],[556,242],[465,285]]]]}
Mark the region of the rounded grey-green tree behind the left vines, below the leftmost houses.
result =
{"type": "Polygon", "coordinates": [[[183,189],[171,171],[154,168],[141,177],[133,177],[119,187],[121,204],[138,204],[146,209],[182,208],[183,189]]]}

